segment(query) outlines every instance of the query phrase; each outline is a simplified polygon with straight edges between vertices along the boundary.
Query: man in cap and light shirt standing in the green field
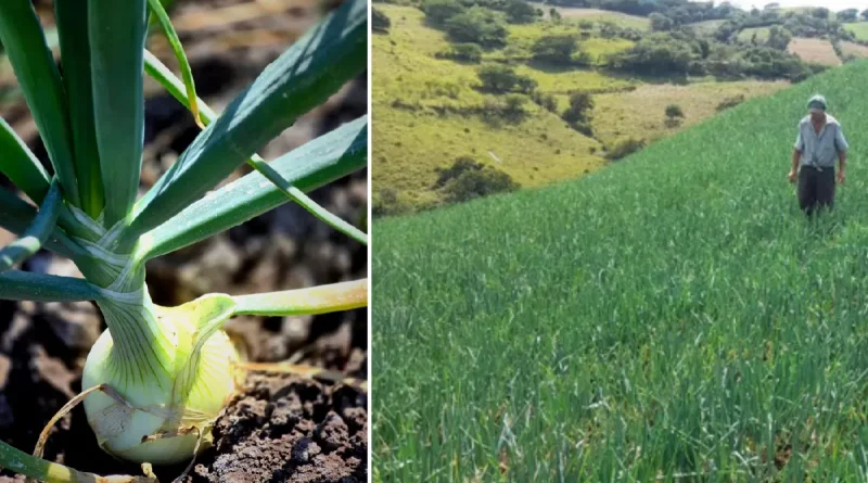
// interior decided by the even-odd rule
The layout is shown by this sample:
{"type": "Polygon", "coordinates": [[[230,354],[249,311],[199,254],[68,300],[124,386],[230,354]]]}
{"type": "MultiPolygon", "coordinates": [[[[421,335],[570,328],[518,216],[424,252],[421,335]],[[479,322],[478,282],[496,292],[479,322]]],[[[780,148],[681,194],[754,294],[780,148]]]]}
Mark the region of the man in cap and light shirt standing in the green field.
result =
{"type": "Polygon", "coordinates": [[[818,208],[832,208],[834,204],[835,181],[844,182],[847,141],[838,120],[826,113],[826,98],[814,96],[807,109],[808,115],[799,123],[790,182],[799,179],[799,206],[810,216],[818,208]]]}

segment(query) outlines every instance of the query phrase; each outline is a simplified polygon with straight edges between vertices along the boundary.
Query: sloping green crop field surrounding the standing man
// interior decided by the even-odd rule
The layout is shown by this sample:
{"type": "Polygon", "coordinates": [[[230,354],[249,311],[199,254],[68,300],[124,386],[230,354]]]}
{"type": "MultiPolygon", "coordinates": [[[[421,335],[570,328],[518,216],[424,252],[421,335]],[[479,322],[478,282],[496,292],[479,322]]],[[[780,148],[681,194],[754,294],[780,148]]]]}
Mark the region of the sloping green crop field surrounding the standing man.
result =
{"type": "Polygon", "coordinates": [[[866,481],[866,78],[847,64],[582,179],[376,221],[373,480],[866,481]],[[852,150],[810,225],[786,175],[818,91],[852,150]]]}

